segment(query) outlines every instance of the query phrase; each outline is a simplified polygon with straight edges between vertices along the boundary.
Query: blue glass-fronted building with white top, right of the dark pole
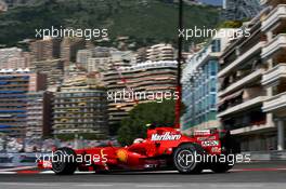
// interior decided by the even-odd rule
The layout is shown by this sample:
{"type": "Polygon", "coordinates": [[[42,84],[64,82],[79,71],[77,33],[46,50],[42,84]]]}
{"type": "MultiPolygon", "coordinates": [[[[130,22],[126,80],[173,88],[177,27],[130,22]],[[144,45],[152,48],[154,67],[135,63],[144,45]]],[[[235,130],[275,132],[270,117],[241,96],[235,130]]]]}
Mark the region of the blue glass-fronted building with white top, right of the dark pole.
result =
{"type": "Polygon", "coordinates": [[[195,130],[220,127],[217,119],[217,75],[219,57],[227,42],[227,38],[218,35],[186,60],[182,77],[182,100],[186,111],[181,121],[181,130],[186,134],[192,134],[195,130]]]}

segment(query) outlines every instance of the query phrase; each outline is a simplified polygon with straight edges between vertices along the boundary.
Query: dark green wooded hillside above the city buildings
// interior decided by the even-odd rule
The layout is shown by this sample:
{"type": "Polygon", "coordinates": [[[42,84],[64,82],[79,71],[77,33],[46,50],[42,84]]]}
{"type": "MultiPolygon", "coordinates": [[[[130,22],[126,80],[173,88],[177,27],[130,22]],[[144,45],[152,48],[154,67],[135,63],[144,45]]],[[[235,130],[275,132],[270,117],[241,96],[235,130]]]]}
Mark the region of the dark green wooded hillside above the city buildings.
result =
{"type": "MultiPolygon", "coordinates": [[[[219,15],[218,8],[185,5],[185,27],[216,27],[219,15]]],[[[14,45],[34,38],[36,28],[51,26],[107,28],[110,38],[129,36],[138,45],[176,42],[178,4],[159,0],[30,0],[0,14],[0,44],[14,45]]]]}

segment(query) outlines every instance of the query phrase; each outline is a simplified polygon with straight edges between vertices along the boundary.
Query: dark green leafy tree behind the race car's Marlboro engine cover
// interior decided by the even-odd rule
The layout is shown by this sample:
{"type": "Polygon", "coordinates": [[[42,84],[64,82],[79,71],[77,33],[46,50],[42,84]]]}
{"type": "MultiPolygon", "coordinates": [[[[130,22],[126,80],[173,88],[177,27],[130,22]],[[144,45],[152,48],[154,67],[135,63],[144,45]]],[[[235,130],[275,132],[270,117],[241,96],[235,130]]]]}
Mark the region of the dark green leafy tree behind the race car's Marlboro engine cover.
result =
{"type": "MultiPolygon", "coordinates": [[[[123,119],[118,130],[118,141],[121,145],[130,145],[135,138],[146,137],[146,124],[154,123],[158,126],[173,126],[176,100],[162,103],[139,104],[123,119]]],[[[182,105],[182,110],[185,107],[182,105]]],[[[182,111],[182,113],[183,113],[182,111]]]]}

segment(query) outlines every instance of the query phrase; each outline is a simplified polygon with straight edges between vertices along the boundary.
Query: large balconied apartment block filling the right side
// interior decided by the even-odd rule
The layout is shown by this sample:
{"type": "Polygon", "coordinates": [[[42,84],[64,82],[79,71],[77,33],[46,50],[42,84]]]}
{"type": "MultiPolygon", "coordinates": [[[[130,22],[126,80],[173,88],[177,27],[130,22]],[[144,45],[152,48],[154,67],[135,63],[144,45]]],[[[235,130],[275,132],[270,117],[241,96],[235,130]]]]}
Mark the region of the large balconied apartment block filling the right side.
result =
{"type": "Polygon", "coordinates": [[[250,37],[234,40],[221,57],[219,114],[224,129],[248,151],[285,148],[285,1],[271,5],[244,27],[250,37]]]}

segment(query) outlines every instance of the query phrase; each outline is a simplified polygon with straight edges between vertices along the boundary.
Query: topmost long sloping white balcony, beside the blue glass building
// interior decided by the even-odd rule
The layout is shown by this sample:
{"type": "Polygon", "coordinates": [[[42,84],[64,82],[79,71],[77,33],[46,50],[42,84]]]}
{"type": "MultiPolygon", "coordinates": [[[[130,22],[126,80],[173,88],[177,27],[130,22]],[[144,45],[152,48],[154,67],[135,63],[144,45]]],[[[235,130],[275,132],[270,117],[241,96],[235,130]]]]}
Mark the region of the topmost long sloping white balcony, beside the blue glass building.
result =
{"type": "Polygon", "coordinates": [[[242,54],[237,59],[235,59],[233,63],[231,63],[229,66],[220,70],[218,77],[222,78],[224,77],[227,72],[233,71],[235,67],[237,67],[242,62],[246,60],[249,56],[251,56],[253,53],[259,52],[263,46],[265,42],[260,41],[256,45],[253,45],[251,49],[249,49],[246,53],[242,54]]]}

